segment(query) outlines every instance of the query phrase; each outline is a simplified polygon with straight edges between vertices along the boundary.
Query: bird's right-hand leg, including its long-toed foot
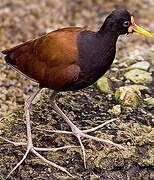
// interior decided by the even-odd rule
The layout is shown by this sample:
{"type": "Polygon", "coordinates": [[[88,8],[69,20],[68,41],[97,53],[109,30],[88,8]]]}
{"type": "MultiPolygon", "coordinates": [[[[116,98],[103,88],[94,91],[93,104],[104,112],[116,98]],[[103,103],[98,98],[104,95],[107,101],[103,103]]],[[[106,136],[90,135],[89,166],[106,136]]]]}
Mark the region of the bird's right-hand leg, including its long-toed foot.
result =
{"type": "Polygon", "coordinates": [[[110,120],[110,121],[107,121],[106,123],[103,123],[95,128],[92,128],[92,129],[89,129],[89,130],[80,130],[76,125],[74,125],[70,120],[69,118],[62,112],[62,110],[57,106],[56,102],[55,102],[55,95],[56,95],[56,91],[53,91],[52,94],[51,94],[51,103],[53,105],[53,109],[67,122],[67,124],[71,127],[72,129],[72,132],[69,132],[69,131],[50,131],[50,132],[57,132],[57,133],[64,133],[64,134],[73,134],[75,135],[78,140],[79,140],[79,143],[81,145],[81,148],[82,148],[82,151],[83,151],[83,158],[84,158],[84,165],[86,167],[86,153],[85,153],[85,148],[84,148],[84,145],[81,141],[81,137],[85,137],[85,138],[88,138],[88,139],[93,139],[95,141],[99,141],[99,142],[103,142],[103,143],[108,143],[108,144],[111,144],[113,146],[116,146],[117,148],[119,149],[125,149],[122,145],[120,144],[116,144],[110,140],[105,140],[105,139],[102,139],[102,138],[97,138],[97,137],[94,137],[94,136],[90,136],[90,135],[87,135],[86,133],[88,132],[92,132],[92,131],[95,131],[103,126],[105,126],[106,124],[110,123],[110,122],[113,122],[114,120],[110,120]]]}

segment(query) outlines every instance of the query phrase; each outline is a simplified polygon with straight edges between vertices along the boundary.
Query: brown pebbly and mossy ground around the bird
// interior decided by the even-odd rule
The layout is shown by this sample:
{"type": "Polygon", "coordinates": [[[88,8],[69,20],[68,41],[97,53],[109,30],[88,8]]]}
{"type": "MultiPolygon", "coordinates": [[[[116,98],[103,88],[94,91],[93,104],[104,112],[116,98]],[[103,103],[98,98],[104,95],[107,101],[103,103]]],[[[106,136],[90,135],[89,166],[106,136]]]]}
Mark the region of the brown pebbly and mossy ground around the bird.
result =
{"type": "MultiPolygon", "coordinates": [[[[52,0],[1,0],[0,3],[0,49],[12,47],[28,39],[61,27],[82,26],[96,31],[107,14],[115,8],[127,8],[137,24],[153,32],[154,1],[52,1],[52,0]]],[[[133,34],[122,36],[117,43],[115,63],[106,74],[113,82],[113,91],[129,84],[123,80],[122,59],[140,55],[150,48],[154,39],[133,34]]],[[[23,104],[37,84],[22,78],[8,67],[3,55],[0,57],[0,135],[11,140],[26,142],[26,126],[23,104]]],[[[147,84],[153,96],[153,84],[147,84]]],[[[60,147],[78,145],[73,136],[57,135],[39,129],[69,130],[67,124],[52,110],[49,92],[43,90],[32,107],[32,130],[34,145],[60,147]]],[[[146,93],[143,94],[143,96],[146,93]]],[[[102,94],[96,85],[77,92],[57,95],[57,102],[68,117],[81,129],[95,127],[107,120],[117,118],[108,112],[116,105],[114,94],[102,94]]],[[[153,179],[153,109],[146,104],[136,108],[122,109],[117,120],[95,133],[95,136],[113,140],[127,147],[119,151],[110,145],[83,140],[87,152],[87,168],[83,165],[80,148],[42,153],[53,162],[66,167],[73,178],[55,168],[42,164],[32,154],[10,176],[10,179],[153,179]]],[[[15,147],[0,140],[0,179],[5,179],[20,161],[24,147],[15,147]]]]}

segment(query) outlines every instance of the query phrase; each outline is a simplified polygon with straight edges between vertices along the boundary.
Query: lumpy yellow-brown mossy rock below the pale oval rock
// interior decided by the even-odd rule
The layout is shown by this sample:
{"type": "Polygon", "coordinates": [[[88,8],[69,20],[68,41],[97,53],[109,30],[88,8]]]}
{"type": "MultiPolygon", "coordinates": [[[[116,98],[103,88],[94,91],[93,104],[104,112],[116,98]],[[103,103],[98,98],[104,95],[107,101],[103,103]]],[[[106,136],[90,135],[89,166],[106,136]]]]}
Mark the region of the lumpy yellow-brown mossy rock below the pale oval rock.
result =
{"type": "Polygon", "coordinates": [[[141,91],[149,88],[142,85],[122,86],[115,92],[115,99],[123,106],[136,106],[141,100],[141,91]]]}

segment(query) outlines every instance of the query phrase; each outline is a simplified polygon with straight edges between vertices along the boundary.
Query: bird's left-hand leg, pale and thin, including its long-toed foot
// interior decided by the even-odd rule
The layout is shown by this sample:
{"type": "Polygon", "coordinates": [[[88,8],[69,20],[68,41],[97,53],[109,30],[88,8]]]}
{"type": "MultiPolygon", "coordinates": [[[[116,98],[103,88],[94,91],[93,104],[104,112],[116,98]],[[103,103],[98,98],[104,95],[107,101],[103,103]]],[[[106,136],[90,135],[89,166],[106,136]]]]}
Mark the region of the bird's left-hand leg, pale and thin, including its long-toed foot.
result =
{"type": "MultiPolygon", "coordinates": [[[[34,153],[37,157],[39,157],[43,162],[45,162],[48,165],[51,165],[55,168],[60,169],[61,171],[67,173],[69,176],[72,176],[65,168],[47,160],[46,158],[44,158],[42,155],[40,155],[36,150],[38,151],[55,151],[56,149],[54,148],[35,148],[33,147],[33,142],[32,142],[32,133],[31,133],[31,125],[30,125],[30,106],[31,103],[33,101],[33,99],[36,97],[36,95],[40,92],[40,88],[32,95],[30,96],[26,103],[25,103],[25,115],[26,115],[26,125],[27,125],[27,143],[15,143],[13,141],[7,140],[5,138],[1,138],[9,143],[13,143],[14,145],[27,145],[27,151],[24,154],[23,158],[21,159],[21,161],[12,169],[12,171],[8,174],[7,178],[20,166],[20,164],[22,164],[22,162],[26,159],[28,153],[31,151],[32,153],[34,153]]],[[[65,146],[65,147],[61,147],[61,149],[65,149],[68,147],[72,147],[72,146],[65,146]]]]}

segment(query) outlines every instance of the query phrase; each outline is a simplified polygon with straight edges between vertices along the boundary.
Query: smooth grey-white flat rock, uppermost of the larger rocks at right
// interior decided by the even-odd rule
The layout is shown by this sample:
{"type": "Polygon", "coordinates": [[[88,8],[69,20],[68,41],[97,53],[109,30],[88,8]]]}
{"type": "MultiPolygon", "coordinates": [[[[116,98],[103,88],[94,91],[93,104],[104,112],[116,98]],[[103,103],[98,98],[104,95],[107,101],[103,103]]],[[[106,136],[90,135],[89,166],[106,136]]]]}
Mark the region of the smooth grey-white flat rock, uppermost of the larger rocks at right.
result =
{"type": "Polygon", "coordinates": [[[150,63],[148,61],[141,61],[141,62],[137,62],[135,64],[132,64],[131,66],[129,66],[127,68],[127,70],[132,70],[132,69],[141,69],[144,71],[148,71],[148,69],[150,68],[150,63]]]}

